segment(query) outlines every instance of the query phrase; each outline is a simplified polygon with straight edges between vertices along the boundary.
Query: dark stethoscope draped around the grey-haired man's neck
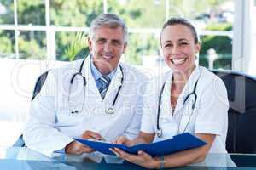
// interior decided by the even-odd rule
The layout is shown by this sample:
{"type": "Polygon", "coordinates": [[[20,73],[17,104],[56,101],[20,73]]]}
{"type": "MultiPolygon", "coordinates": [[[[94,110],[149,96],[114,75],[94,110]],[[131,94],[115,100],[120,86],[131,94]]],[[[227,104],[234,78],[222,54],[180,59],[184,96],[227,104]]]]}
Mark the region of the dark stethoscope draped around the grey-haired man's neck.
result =
{"type": "MultiPolygon", "coordinates": [[[[70,83],[70,84],[69,84],[69,91],[68,91],[68,97],[67,97],[67,103],[68,103],[68,102],[70,101],[71,88],[72,88],[72,85],[73,85],[73,82],[74,82],[74,78],[77,77],[77,76],[83,77],[83,82],[84,82],[84,83],[83,83],[83,84],[84,84],[84,94],[83,94],[83,105],[82,105],[81,111],[84,110],[84,104],[85,104],[85,87],[86,87],[86,84],[87,84],[86,78],[82,75],[82,70],[83,70],[83,66],[84,66],[84,61],[85,61],[85,59],[82,61],[81,65],[80,65],[79,72],[74,73],[73,76],[72,76],[71,79],[70,79],[70,82],[69,82],[69,83],[70,83]]],[[[120,71],[121,71],[121,73],[122,73],[121,85],[120,85],[119,88],[118,88],[118,92],[115,94],[115,97],[114,97],[114,99],[113,99],[112,105],[111,105],[110,107],[108,107],[108,109],[105,111],[106,114],[108,114],[108,115],[113,115],[113,113],[114,113],[114,109],[113,109],[113,108],[114,108],[114,105],[115,105],[115,103],[116,103],[116,100],[118,99],[120,90],[121,90],[121,88],[122,88],[122,86],[123,86],[123,82],[124,82],[124,72],[123,72],[123,68],[122,68],[121,65],[119,65],[119,67],[120,67],[120,71]]],[[[77,115],[77,114],[79,114],[79,110],[76,110],[76,109],[73,108],[73,109],[70,109],[69,113],[70,113],[71,115],[77,115]]]]}

